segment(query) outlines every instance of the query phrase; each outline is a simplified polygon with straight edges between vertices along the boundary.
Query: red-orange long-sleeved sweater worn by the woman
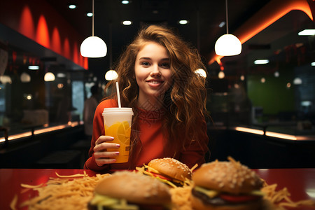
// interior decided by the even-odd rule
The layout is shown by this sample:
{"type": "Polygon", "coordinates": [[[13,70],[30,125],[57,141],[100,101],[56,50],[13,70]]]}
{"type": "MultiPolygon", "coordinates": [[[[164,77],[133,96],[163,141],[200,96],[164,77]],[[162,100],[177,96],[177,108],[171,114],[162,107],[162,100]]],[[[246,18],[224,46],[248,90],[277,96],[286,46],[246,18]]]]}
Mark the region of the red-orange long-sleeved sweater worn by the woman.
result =
{"type": "MultiPolygon", "coordinates": [[[[162,119],[163,116],[158,111],[145,111],[143,109],[137,109],[139,112],[139,128],[140,128],[140,141],[141,145],[137,144],[136,151],[139,153],[137,160],[129,160],[126,163],[114,163],[98,167],[95,158],[93,148],[95,141],[99,136],[104,135],[104,120],[103,110],[104,108],[118,107],[118,104],[114,100],[102,101],[98,106],[94,114],[93,122],[93,134],[91,141],[91,148],[89,151],[90,158],[87,159],[84,165],[84,169],[91,169],[97,172],[108,172],[109,169],[134,169],[133,167],[142,167],[144,164],[155,158],[176,158],[177,160],[188,165],[189,168],[193,167],[196,163],[198,166],[204,163],[204,154],[208,151],[208,138],[200,139],[200,143],[196,141],[187,141],[186,150],[171,151],[167,147],[168,139],[165,139],[162,135],[162,119]],[[174,155],[175,154],[175,155],[174,155]]],[[[196,122],[197,123],[197,122],[196,122]]],[[[200,127],[205,132],[207,137],[207,125],[204,120],[200,120],[200,127]]]]}

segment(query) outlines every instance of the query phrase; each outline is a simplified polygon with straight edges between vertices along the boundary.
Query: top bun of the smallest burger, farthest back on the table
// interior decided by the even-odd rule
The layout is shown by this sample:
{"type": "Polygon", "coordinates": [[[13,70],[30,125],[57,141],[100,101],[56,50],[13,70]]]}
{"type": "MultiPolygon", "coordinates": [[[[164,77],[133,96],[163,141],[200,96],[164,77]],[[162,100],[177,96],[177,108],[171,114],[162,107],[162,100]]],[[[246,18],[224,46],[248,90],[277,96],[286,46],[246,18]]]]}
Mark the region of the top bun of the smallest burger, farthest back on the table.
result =
{"type": "Polygon", "coordinates": [[[188,166],[174,158],[154,159],[148,163],[148,166],[158,170],[160,174],[166,175],[172,179],[177,179],[179,181],[185,181],[186,179],[191,180],[192,173],[188,166]]]}

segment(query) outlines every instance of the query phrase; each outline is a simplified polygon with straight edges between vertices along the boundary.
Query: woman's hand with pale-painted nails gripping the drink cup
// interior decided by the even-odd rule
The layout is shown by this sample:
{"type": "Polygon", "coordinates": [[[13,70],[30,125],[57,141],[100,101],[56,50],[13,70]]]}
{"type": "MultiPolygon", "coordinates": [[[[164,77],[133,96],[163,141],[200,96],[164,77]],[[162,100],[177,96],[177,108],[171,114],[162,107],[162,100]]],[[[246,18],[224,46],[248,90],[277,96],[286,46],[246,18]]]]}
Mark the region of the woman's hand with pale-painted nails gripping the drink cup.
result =
{"type": "Polygon", "coordinates": [[[105,164],[114,163],[116,159],[110,159],[110,157],[116,157],[119,155],[118,151],[108,152],[107,148],[119,148],[120,145],[116,143],[111,143],[113,141],[113,137],[109,136],[100,136],[97,141],[95,141],[94,146],[94,157],[95,162],[99,167],[102,167],[105,164]]]}

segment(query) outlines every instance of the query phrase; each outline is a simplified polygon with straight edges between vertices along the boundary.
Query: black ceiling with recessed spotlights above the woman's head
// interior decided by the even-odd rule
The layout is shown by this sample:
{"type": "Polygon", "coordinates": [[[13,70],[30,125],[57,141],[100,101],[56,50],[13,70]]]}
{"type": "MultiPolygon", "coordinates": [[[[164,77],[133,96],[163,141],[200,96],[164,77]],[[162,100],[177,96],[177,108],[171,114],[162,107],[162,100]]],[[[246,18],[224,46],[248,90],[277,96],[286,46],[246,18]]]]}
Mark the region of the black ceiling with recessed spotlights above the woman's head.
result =
{"type": "MultiPolygon", "coordinates": [[[[83,37],[92,35],[92,18],[85,14],[92,11],[92,0],[72,1],[78,6],[71,10],[70,1],[47,0],[83,37]]],[[[242,23],[265,6],[269,0],[228,1],[228,27],[233,33],[242,23]]],[[[226,33],[225,1],[209,0],[132,0],[124,5],[120,0],[94,0],[94,36],[101,37],[108,47],[106,57],[89,59],[90,69],[101,76],[116,61],[125,45],[130,43],[143,25],[163,24],[176,29],[185,41],[193,44],[204,61],[214,50],[214,43],[226,33]],[[121,24],[131,20],[130,26],[121,24]],[[179,25],[188,20],[188,25],[179,25]]]]}

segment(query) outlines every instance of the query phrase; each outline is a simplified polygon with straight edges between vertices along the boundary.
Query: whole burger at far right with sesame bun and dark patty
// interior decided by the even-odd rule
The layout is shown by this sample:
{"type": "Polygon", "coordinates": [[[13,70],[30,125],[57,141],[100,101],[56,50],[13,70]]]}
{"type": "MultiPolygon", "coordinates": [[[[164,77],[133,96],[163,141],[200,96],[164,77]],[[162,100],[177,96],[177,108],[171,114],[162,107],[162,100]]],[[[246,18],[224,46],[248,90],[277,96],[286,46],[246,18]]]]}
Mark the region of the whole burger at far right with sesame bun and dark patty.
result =
{"type": "Polygon", "coordinates": [[[205,163],[193,174],[191,202],[194,209],[260,209],[262,180],[232,158],[205,163]]]}

